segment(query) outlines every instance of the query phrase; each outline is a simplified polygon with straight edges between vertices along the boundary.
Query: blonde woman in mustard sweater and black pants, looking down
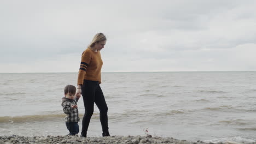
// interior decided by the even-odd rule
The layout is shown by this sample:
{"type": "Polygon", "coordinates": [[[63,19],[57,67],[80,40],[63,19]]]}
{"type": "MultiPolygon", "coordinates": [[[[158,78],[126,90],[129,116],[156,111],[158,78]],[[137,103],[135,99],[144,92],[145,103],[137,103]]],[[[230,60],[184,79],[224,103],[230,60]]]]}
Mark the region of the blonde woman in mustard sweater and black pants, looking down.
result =
{"type": "Polygon", "coordinates": [[[84,100],[85,113],[81,132],[83,137],[87,136],[90,119],[94,113],[94,103],[100,110],[102,136],[110,136],[108,132],[108,106],[100,87],[103,64],[100,51],[106,45],[106,40],[107,38],[103,33],[97,33],[82,54],[78,73],[77,95],[82,94],[84,100]]]}

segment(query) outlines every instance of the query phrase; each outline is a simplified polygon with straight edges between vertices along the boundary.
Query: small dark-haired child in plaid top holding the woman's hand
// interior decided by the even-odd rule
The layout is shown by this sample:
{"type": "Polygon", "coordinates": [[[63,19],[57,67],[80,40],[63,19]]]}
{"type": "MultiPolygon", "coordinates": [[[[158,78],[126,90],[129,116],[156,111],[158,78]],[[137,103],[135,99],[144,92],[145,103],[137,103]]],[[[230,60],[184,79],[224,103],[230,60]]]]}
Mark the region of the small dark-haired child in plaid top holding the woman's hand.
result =
{"type": "Polygon", "coordinates": [[[77,89],[73,85],[67,85],[64,88],[65,97],[62,98],[63,112],[66,113],[65,121],[67,129],[69,130],[68,135],[75,135],[79,133],[77,101],[80,98],[75,97],[75,91],[77,89]]]}

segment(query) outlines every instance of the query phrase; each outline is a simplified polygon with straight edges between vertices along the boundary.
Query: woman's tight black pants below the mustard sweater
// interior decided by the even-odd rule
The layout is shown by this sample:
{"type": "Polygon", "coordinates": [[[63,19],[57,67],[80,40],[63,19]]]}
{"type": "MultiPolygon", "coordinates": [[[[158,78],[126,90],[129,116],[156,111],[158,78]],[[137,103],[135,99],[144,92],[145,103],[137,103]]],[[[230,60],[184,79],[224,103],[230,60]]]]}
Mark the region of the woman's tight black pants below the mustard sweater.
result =
{"type": "Polygon", "coordinates": [[[108,106],[98,81],[84,80],[82,87],[85,113],[82,122],[82,136],[86,136],[90,119],[94,113],[94,103],[100,110],[100,121],[103,133],[108,132],[108,106]]]}

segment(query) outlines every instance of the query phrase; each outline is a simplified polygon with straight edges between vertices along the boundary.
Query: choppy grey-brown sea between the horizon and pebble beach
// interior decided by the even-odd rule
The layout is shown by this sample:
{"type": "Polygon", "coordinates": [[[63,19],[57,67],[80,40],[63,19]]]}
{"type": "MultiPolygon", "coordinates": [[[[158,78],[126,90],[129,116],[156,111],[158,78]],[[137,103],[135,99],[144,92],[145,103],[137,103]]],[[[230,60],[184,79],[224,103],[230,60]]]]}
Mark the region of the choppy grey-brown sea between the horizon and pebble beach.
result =
{"type": "MultiPolygon", "coordinates": [[[[0,74],[0,135],[67,135],[61,98],[77,73],[0,74]]],[[[102,73],[110,135],[256,141],[256,71],[102,73]]],[[[83,99],[78,101],[80,131],[83,99]]],[[[88,136],[102,136],[95,105],[88,136]]],[[[80,132],[79,132],[80,134],[80,132]]]]}

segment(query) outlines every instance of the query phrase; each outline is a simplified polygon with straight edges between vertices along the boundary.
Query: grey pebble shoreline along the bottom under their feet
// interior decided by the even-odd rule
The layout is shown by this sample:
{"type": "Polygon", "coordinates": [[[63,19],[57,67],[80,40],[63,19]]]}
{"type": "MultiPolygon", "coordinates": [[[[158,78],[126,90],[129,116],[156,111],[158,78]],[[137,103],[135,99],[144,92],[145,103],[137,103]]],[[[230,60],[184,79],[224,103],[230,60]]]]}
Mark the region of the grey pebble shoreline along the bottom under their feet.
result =
{"type": "MultiPolygon", "coordinates": [[[[153,144],[153,143],[172,143],[172,144],[214,144],[213,142],[203,141],[187,141],[178,140],[173,137],[159,137],[159,136],[107,136],[107,137],[80,137],[75,136],[0,136],[0,144],[2,143],[90,143],[90,144],[153,144]]],[[[217,142],[216,144],[240,144],[235,141],[217,142]]],[[[243,144],[243,143],[241,143],[243,144]]],[[[247,144],[256,144],[254,142],[248,142],[247,144]]]]}

